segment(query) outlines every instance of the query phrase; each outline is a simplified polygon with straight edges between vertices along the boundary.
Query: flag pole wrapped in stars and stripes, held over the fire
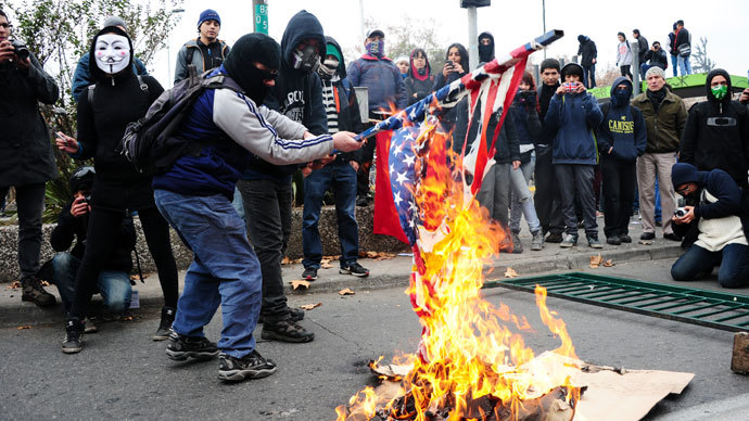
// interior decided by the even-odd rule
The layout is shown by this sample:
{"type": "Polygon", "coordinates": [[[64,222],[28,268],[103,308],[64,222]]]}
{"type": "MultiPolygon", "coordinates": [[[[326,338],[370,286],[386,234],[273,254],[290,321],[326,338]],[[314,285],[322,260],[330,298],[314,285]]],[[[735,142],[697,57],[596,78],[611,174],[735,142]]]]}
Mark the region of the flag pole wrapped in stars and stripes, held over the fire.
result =
{"type": "Polygon", "coordinates": [[[469,87],[465,84],[461,85],[462,79],[484,79],[485,77],[488,77],[487,69],[512,65],[517,60],[519,60],[521,55],[528,55],[528,53],[530,52],[543,50],[551,42],[558,40],[563,36],[563,30],[549,30],[548,33],[539,37],[536,37],[532,41],[526,42],[518,47],[517,49],[512,50],[507,56],[502,59],[494,59],[493,61],[471,72],[469,75],[464,76],[461,79],[455,80],[453,84],[441,88],[436,92],[430,93],[429,95],[427,95],[427,98],[422,99],[421,101],[406,107],[405,110],[402,110],[397,114],[384,119],[383,122],[378,123],[373,127],[357,135],[355,139],[361,141],[371,138],[380,131],[397,129],[403,125],[404,117],[410,120],[418,120],[423,117],[426,110],[429,110],[430,105],[435,100],[443,107],[452,107],[466,93],[468,93],[469,87]]]}

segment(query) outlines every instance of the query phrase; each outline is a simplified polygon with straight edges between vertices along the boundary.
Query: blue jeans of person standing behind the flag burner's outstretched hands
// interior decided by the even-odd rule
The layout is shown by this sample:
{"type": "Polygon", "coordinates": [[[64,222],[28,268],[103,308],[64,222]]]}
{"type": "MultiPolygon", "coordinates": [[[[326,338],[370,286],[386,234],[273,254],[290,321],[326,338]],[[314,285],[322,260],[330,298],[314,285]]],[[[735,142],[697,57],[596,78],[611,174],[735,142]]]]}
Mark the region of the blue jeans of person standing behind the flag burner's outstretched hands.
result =
{"type": "Polygon", "coordinates": [[[341,242],[341,265],[355,264],[359,256],[359,227],[356,224],[356,171],[347,162],[335,161],[312,171],[304,179],[304,212],[302,220],[302,248],[305,268],[320,267],[322,244],[320,220],[322,196],[333,187],[338,238],[341,242]]]}

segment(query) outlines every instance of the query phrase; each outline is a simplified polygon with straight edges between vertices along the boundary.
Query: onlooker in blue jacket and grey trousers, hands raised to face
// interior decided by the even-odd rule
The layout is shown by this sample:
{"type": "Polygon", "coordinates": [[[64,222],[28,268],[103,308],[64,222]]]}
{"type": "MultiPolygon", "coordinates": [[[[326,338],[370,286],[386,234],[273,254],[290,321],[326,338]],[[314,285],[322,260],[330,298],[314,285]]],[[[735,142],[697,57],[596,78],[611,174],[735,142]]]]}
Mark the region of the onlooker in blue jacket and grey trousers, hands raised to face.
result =
{"type": "Polygon", "coordinates": [[[553,142],[554,169],[561,190],[564,225],[562,247],[577,245],[575,200],[580,202],[585,221],[585,235],[593,248],[600,248],[596,222],[596,200],[593,177],[598,164],[594,130],[604,119],[598,101],[582,84],[583,67],[569,63],[561,69],[564,80],[555,92],[546,113],[546,125],[556,130],[553,142]]]}

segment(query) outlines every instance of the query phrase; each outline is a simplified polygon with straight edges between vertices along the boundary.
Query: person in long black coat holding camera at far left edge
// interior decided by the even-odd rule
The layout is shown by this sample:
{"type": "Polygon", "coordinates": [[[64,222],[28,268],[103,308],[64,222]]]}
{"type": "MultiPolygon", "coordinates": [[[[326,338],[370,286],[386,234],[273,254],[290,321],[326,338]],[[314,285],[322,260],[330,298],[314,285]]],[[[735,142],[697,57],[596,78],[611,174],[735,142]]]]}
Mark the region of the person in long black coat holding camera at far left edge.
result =
{"type": "Polygon", "coordinates": [[[55,298],[45,291],[36,273],[46,183],[58,177],[58,167],[39,102],[53,104],[60,90],[37,58],[11,39],[11,28],[0,10],[0,191],[15,187],[21,299],[46,307],[54,305],[55,298]]]}

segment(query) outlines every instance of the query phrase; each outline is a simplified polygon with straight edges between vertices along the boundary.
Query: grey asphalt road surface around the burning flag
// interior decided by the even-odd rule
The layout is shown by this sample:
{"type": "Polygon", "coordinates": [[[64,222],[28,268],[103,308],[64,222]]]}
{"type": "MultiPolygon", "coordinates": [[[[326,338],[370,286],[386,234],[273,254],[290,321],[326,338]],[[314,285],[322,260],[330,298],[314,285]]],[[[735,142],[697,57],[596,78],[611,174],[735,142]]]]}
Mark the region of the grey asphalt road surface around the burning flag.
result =
{"type": "MultiPolygon", "coordinates": [[[[597,270],[659,281],[668,279],[670,263],[597,270]]],[[[699,286],[718,289],[710,282],[699,286]]],[[[541,323],[532,294],[494,289],[486,298],[528,317],[537,331],[525,335],[529,346],[538,353],[558,346],[541,323]]],[[[99,333],[85,337],[87,347],[77,355],[60,352],[62,326],[0,329],[0,419],[332,420],[335,406],[371,384],[366,362],[412,352],[420,328],[402,289],[290,298],[292,305],[309,303],[322,303],[303,321],[316,340],[261,342],[258,350],[278,363],[278,372],[239,384],[220,382],[215,360],[168,360],[165,343],[150,340],[158,323],[155,314],[140,314],[130,323],[104,323],[99,333]]],[[[648,420],[689,408],[707,414],[714,403],[735,400],[749,391],[749,377],[729,371],[731,332],[558,298],[548,304],[566,320],[577,355],[588,362],[696,373],[682,395],[661,401],[648,420]]],[[[217,340],[219,330],[217,316],[206,333],[217,340]]],[[[259,337],[259,330],[256,333],[259,337]]]]}

